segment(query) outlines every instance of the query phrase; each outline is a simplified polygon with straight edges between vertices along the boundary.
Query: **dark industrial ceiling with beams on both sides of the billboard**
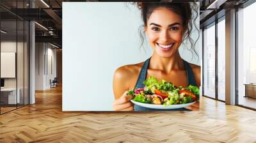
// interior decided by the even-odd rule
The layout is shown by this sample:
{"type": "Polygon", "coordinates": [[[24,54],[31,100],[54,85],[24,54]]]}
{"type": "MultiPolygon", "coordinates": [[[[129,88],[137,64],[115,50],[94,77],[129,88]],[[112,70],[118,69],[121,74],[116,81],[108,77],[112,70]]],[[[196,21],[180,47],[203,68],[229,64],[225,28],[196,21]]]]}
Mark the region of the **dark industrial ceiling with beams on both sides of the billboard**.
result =
{"type": "MultiPolygon", "coordinates": [[[[76,2],[76,0],[1,0],[0,14],[1,25],[3,25],[1,27],[2,29],[5,27],[10,34],[16,34],[16,31],[12,30],[16,28],[16,19],[35,20],[38,23],[35,24],[36,41],[56,43],[61,47],[62,2],[68,1],[76,2]]],[[[192,0],[173,0],[173,2],[190,1],[192,0]]],[[[246,3],[246,1],[248,0],[198,0],[200,2],[200,28],[214,21],[216,13],[218,13],[217,18],[221,17],[225,15],[226,10],[246,3]]],[[[22,26],[18,28],[17,33],[21,31],[23,31],[22,26]]]]}

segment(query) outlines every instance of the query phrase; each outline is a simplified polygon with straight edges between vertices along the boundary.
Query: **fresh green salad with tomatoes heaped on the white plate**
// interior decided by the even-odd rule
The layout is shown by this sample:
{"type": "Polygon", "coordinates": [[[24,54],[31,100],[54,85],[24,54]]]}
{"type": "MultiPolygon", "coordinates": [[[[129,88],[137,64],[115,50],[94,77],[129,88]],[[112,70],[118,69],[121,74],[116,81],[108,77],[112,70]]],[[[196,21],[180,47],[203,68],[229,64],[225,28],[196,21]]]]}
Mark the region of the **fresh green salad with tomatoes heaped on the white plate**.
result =
{"type": "Polygon", "coordinates": [[[175,87],[171,82],[157,80],[148,77],[143,82],[143,88],[131,89],[127,94],[132,94],[135,102],[156,105],[173,105],[195,102],[199,100],[199,88],[197,86],[175,87]]]}

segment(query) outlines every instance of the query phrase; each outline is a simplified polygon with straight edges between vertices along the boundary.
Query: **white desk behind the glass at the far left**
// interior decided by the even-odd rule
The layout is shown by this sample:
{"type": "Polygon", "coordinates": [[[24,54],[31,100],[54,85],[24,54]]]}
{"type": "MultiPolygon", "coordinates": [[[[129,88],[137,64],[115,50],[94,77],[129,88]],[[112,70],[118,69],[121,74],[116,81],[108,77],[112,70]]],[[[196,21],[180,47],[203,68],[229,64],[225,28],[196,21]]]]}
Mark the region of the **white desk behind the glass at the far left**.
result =
{"type": "Polygon", "coordinates": [[[17,88],[18,94],[16,99],[16,88],[1,89],[1,100],[6,104],[20,103],[20,89],[17,88]],[[7,102],[8,101],[8,102],[7,102]]]}

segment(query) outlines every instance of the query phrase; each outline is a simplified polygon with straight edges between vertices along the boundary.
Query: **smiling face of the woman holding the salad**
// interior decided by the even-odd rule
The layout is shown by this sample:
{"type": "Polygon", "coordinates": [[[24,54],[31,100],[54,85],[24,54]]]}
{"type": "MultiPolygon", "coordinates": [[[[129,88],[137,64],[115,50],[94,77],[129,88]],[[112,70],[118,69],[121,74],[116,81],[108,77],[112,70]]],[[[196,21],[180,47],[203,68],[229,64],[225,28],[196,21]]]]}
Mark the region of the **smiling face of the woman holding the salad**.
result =
{"type": "Polygon", "coordinates": [[[171,57],[182,43],[182,18],[167,8],[157,8],[148,19],[145,32],[157,55],[171,57]]]}

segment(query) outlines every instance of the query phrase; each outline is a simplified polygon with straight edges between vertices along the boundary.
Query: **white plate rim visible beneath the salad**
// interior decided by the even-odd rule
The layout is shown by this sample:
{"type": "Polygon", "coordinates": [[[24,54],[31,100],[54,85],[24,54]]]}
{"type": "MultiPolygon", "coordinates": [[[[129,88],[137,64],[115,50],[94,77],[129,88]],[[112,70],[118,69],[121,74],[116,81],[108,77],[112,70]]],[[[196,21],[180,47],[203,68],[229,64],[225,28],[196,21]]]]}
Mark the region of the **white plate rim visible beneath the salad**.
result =
{"type": "Polygon", "coordinates": [[[131,100],[132,103],[142,106],[142,107],[146,107],[149,109],[180,109],[180,108],[184,108],[187,107],[195,102],[191,102],[191,103],[186,103],[186,104],[175,104],[175,105],[156,105],[156,104],[148,104],[148,103],[141,103],[141,102],[134,102],[133,100],[131,100]]]}

